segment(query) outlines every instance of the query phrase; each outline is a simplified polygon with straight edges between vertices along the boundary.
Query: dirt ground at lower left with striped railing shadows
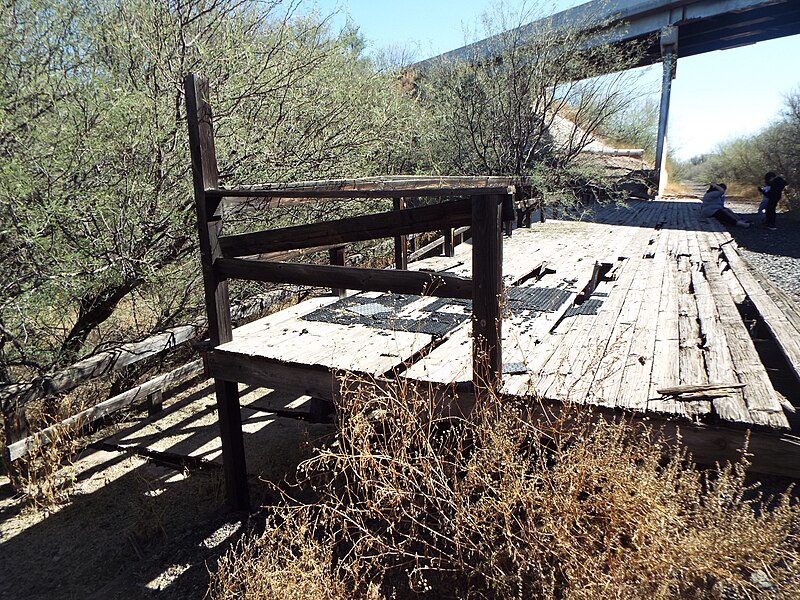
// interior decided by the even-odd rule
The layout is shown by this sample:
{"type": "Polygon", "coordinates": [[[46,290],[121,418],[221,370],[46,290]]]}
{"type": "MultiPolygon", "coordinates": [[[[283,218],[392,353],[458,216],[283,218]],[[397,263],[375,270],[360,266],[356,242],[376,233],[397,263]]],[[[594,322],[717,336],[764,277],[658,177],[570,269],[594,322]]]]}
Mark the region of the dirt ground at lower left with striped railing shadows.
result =
{"type": "MultiPolygon", "coordinates": [[[[245,448],[253,505],[265,481],[291,476],[332,426],[276,416],[307,398],[244,390],[245,448]]],[[[158,420],[133,415],[62,469],[69,499],[32,508],[0,478],[0,598],[203,598],[218,557],[259,515],[224,504],[213,387],[165,402],[158,420]],[[193,457],[181,466],[170,459],[193,457]]]]}

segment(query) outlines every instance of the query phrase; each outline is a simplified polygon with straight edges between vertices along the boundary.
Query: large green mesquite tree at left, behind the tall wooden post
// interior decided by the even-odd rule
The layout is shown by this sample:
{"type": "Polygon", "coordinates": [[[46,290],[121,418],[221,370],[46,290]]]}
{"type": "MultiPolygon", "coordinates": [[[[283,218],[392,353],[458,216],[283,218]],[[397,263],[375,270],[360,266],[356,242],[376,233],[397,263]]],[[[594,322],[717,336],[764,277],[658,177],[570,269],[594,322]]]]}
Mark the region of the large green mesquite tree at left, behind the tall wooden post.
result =
{"type": "Polygon", "coordinates": [[[225,183],[401,163],[405,96],[363,56],[357,32],[333,33],[296,9],[279,0],[0,8],[0,380],[197,316],[187,72],[210,80],[225,183]]]}

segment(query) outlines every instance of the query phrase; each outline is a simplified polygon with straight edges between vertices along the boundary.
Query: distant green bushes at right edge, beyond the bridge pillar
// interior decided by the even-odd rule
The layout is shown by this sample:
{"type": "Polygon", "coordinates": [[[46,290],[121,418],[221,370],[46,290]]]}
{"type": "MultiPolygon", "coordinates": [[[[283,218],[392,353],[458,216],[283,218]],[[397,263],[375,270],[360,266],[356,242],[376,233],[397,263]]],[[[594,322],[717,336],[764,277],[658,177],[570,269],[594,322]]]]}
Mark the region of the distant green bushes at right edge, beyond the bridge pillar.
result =
{"type": "Polygon", "coordinates": [[[697,182],[737,183],[756,198],[756,187],[764,184],[767,171],[784,175],[790,184],[786,196],[796,202],[800,184],[800,89],[786,95],[783,110],[772,125],[678,163],[673,176],[697,182]]]}

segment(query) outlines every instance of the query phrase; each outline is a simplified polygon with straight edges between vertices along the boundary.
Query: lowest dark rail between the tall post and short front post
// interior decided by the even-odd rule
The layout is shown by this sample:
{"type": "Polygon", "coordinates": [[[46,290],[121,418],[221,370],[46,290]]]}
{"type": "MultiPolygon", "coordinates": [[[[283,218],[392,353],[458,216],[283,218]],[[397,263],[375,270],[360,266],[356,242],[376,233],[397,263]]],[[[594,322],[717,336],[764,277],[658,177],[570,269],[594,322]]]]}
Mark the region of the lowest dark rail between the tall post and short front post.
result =
{"type": "Polygon", "coordinates": [[[219,277],[233,279],[440,298],[472,297],[471,280],[445,273],[304,265],[244,258],[220,258],[214,264],[219,277]]]}

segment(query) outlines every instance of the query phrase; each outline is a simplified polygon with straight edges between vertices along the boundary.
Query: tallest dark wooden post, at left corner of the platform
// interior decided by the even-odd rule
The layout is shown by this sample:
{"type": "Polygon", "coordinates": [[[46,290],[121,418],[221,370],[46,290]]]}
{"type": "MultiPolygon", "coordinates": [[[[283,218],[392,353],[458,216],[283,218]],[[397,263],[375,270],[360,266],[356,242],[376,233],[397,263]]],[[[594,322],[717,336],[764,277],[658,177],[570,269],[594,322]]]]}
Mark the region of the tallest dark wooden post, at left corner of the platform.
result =
{"type": "MultiPolygon", "coordinates": [[[[206,313],[211,347],[232,338],[228,282],[217,277],[214,260],[219,257],[218,237],[222,231],[222,206],[206,196],[206,190],[219,186],[214,126],[208,103],[208,80],[190,73],[184,80],[189,150],[192,157],[197,227],[200,236],[200,262],[205,289],[206,313]]],[[[242,415],[239,388],[235,382],[214,379],[217,395],[222,461],[229,502],[235,509],[250,507],[247,467],[242,439],[242,415]]]]}

